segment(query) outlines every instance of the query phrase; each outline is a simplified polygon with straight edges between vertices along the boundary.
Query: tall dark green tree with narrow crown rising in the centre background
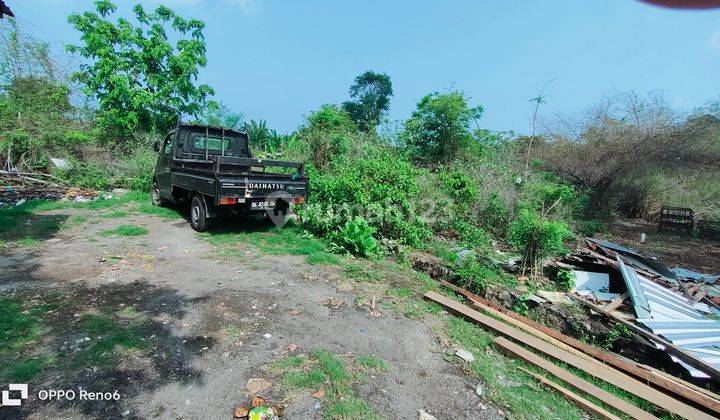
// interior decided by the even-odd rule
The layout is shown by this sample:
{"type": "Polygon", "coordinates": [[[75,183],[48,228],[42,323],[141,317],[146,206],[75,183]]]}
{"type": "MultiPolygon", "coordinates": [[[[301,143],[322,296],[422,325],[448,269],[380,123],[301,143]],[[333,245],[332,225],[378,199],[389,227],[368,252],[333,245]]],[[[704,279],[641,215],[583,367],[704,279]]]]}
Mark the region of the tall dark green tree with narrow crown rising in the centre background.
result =
{"type": "Polygon", "coordinates": [[[390,76],[366,71],[355,78],[350,87],[350,97],[354,100],[343,103],[343,109],[360,130],[371,132],[387,112],[392,95],[390,76]]]}

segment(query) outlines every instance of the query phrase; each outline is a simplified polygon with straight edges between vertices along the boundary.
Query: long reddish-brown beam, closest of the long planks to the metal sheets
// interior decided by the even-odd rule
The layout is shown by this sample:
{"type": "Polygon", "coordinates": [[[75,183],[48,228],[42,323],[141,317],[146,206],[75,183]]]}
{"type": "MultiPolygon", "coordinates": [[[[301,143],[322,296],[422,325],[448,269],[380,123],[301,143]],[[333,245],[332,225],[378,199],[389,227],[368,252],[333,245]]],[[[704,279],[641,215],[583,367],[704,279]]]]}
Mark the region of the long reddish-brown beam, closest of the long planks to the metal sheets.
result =
{"type": "Polygon", "coordinates": [[[705,407],[709,410],[714,411],[717,414],[720,414],[720,401],[718,400],[718,395],[713,394],[712,392],[702,389],[694,384],[691,384],[689,382],[685,382],[680,378],[676,378],[674,376],[671,376],[665,372],[661,372],[657,369],[654,369],[650,366],[646,366],[640,363],[637,363],[633,360],[627,359],[625,357],[622,357],[615,353],[610,353],[603,351],[601,349],[598,349],[596,347],[592,347],[586,343],[583,343],[582,341],[576,340],[572,337],[569,337],[559,331],[556,331],[552,328],[548,328],[547,326],[526,318],[516,312],[513,312],[507,308],[504,308],[502,306],[495,305],[494,303],[490,302],[487,299],[484,299],[480,296],[475,295],[474,293],[465,290],[461,287],[458,287],[452,283],[448,283],[446,281],[441,281],[443,286],[449,287],[455,292],[465,296],[472,302],[479,302],[482,303],[488,307],[491,307],[495,309],[497,312],[502,313],[509,318],[515,319],[517,321],[520,321],[524,324],[527,324],[536,330],[543,332],[547,334],[550,337],[553,337],[557,339],[558,341],[561,341],[568,346],[571,346],[581,352],[584,352],[586,354],[589,354],[590,356],[605,362],[609,365],[614,366],[615,368],[618,368],[626,373],[629,373],[637,378],[640,378],[644,381],[647,381],[650,384],[653,384],[656,387],[659,387],[666,392],[672,393],[674,395],[677,395],[679,397],[686,398],[690,401],[693,401],[694,403],[699,404],[702,407],[705,407]]]}

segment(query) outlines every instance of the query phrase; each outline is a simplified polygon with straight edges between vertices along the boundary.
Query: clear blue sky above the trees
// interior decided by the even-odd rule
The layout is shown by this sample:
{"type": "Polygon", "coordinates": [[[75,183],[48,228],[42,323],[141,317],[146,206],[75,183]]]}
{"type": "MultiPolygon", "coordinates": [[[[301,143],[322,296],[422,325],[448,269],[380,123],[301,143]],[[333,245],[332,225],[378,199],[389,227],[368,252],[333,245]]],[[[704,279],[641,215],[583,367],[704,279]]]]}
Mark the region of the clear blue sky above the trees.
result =
{"type": "MultiPolygon", "coordinates": [[[[146,8],[159,2],[139,1],[146,8]]],[[[89,0],[6,0],[18,22],[61,51],[89,0]]],[[[131,17],[138,1],[116,0],[131,17]]],[[[628,90],[664,93],[689,112],[720,95],[720,10],[662,9],[637,0],[168,0],[206,23],[200,81],[246,119],[291,132],[323,103],[348,100],[366,70],[387,73],[389,119],[458,89],[482,105],[483,128],[531,131],[628,90]]],[[[75,63],[76,64],[76,63],[75,63]]]]}

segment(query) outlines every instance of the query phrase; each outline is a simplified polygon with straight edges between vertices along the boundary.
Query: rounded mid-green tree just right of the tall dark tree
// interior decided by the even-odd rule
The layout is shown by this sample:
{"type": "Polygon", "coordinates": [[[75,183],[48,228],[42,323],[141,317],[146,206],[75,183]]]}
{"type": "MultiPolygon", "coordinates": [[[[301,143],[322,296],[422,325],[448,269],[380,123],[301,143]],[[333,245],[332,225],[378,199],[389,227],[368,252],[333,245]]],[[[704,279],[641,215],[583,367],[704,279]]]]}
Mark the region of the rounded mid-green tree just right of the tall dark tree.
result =
{"type": "Polygon", "coordinates": [[[470,124],[482,112],[481,106],[471,108],[462,92],[435,92],[420,99],[401,137],[416,161],[450,162],[469,146],[470,124]]]}

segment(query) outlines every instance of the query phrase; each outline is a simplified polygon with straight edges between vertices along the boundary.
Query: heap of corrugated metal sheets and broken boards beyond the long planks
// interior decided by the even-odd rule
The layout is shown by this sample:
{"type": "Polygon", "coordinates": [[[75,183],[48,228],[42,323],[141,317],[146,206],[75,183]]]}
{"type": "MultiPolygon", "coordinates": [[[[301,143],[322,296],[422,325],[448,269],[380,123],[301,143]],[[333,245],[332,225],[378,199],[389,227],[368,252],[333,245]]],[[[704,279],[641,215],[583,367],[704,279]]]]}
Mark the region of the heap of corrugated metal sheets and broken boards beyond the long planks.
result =
{"type": "Polygon", "coordinates": [[[586,247],[559,261],[575,270],[575,289],[583,302],[611,318],[662,337],[649,342],[670,354],[697,378],[720,378],[720,275],[668,268],[621,245],[586,239],[586,247]],[[708,372],[710,371],[710,372],[708,372]],[[717,375],[715,375],[715,373],[717,375]]]}

